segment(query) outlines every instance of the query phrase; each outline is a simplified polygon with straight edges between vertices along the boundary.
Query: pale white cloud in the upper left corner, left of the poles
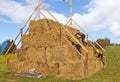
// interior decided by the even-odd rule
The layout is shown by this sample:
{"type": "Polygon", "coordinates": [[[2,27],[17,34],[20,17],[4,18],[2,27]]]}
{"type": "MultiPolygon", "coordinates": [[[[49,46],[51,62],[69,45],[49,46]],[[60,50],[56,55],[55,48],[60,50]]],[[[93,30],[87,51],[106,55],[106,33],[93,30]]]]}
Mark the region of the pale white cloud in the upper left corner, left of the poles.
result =
{"type": "MultiPolygon", "coordinates": [[[[6,21],[11,23],[23,23],[32,10],[33,7],[30,4],[23,6],[12,0],[2,0],[0,2],[0,14],[10,18],[10,20],[6,19],[6,21]]],[[[5,22],[5,20],[3,20],[3,22],[5,22]]]]}

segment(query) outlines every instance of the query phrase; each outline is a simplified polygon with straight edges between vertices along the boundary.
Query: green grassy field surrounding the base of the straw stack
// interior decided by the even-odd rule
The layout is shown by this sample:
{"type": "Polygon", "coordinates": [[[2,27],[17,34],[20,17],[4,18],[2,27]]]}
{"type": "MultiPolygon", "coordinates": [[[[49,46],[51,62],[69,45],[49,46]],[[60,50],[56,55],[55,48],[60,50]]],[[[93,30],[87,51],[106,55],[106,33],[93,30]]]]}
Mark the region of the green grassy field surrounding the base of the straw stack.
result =
{"type": "Polygon", "coordinates": [[[106,50],[106,68],[82,80],[67,80],[52,76],[41,79],[15,77],[13,73],[5,72],[4,56],[0,56],[0,82],[120,82],[120,46],[108,46],[106,50]]]}

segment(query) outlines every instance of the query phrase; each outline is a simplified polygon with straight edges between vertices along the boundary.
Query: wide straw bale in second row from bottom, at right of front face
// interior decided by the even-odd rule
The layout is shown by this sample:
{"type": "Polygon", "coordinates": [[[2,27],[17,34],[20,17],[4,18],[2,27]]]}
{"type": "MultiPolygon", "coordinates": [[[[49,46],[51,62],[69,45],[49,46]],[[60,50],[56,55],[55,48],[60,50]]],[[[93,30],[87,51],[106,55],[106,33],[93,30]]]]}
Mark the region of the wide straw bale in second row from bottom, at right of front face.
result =
{"type": "Polygon", "coordinates": [[[46,53],[48,63],[56,61],[64,64],[71,60],[79,61],[78,53],[75,51],[74,47],[71,47],[69,45],[47,48],[46,53]]]}

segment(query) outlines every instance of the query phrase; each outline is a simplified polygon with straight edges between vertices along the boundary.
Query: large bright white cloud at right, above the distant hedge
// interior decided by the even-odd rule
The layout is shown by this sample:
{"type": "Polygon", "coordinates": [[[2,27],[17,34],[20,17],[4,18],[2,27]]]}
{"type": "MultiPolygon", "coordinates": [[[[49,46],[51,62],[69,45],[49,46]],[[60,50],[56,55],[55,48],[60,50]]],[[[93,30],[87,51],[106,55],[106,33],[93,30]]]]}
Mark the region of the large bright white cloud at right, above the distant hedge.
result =
{"type": "Polygon", "coordinates": [[[120,37],[120,0],[91,0],[87,13],[74,14],[74,19],[92,31],[107,28],[113,37],[120,37]],[[117,23],[116,23],[117,22],[117,23]]]}

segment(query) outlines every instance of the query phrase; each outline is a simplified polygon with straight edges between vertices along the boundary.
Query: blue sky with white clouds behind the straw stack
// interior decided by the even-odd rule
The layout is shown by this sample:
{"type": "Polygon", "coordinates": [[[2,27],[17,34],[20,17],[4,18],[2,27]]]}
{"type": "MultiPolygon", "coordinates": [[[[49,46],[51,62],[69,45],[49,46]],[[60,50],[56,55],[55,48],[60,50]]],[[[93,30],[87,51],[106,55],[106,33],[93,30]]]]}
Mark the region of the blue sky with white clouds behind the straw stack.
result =
{"type": "MultiPolygon", "coordinates": [[[[20,28],[37,6],[37,1],[0,0],[0,43],[17,36],[20,28]]],[[[111,43],[120,43],[120,0],[72,1],[73,20],[81,25],[94,40],[109,38],[111,43]]],[[[60,23],[67,23],[70,0],[41,0],[41,3],[60,23]]],[[[43,9],[41,11],[51,19],[43,9]]],[[[82,31],[81,28],[76,28],[82,31]]]]}

